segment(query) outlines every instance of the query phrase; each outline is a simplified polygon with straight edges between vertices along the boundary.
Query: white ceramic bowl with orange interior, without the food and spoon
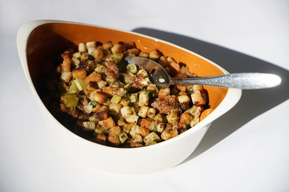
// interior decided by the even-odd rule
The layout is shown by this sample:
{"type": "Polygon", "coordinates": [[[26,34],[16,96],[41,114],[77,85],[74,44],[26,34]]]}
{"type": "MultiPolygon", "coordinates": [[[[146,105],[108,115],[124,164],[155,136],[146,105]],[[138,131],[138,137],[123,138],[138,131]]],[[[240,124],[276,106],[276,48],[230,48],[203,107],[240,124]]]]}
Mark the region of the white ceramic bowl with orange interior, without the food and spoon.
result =
{"type": "Polygon", "coordinates": [[[198,146],[212,121],[230,110],[240,99],[240,89],[204,86],[209,94],[209,110],[202,113],[199,124],[161,143],[140,148],[114,148],[85,140],[55,119],[42,103],[36,81],[52,67],[51,55],[74,48],[87,41],[133,41],[137,48],[150,52],[156,48],[177,62],[186,63],[198,76],[228,72],[208,59],[180,46],[135,32],[101,26],[55,20],[38,20],[23,25],[17,34],[17,48],[27,81],[39,103],[47,128],[56,146],[71,158],[97,169],[123,174],[144,174],[165,170],[184,161],[198,146]]]}

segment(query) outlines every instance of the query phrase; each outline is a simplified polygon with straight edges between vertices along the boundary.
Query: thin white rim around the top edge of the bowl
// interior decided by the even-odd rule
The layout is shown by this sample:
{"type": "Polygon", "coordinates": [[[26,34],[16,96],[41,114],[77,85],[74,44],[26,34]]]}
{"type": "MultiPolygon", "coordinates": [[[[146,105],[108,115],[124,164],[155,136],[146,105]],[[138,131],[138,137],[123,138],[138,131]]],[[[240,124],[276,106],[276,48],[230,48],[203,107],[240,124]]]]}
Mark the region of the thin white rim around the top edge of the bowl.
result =
{"type": "Polygon", "coordinates": [[[71,24],[80,24],[80,25],[86,25],[86,26],[94,26],[94,27],[99,27],[99,28],[105,28],[105,29],[112,29],[112,30],[117,30],[117,31],[121,31],[121,32],[126,32],[126,33],[130,33],[130,34],[134,34],[134,35],[139,35],[145,38],[149,38],[152,39],[154,41],[160,41],[162,43],[165,44],[169,44],[171,46],[177,47],[179,49],[183,49],[184,51],[196,55],[206,61],[208,61],[209,63],[215,65],[216,67],[218,67],[222,72],[224,72],[225,74],[229,74],[228,71],[226,71],[224,68],[222,68],[221,66],[219,66],[218,64],[215,64],[214,62],[210,61],[209,59],[195,53],[192,52],[188,49],[185,49],[181,46],[172,44],[170,42],[167,41],[163,41],[161,39],[158,38],[154,38],[148,35],[143,35],[137,32],[130,32],[130,31],[126,31],[126,30],[121,30],[121,29],[115,29],[115,28],[111,28],[111,27],[104,27],[104,26],[97,26],[97,25],[92,25],[92,24],[85,24],[85,23],[80,23],[80,22],[70,22],[70,21],[61,21],[61,20],[35,20],[35,21],[31,21],[31,22],[27,22],[25,23],[23,26],[20,27],[20,29],[17,32],[17,50],[18,50],[18,54],[20,57],[20,62],[22,65],[22,68],[24,70],[26,79],[28,81],[28,84],[30,85],[30,88],[36,98],[36,100],[38,101],[38,103],[41,105],[41,108],[43,108],[45,110],[45,112],[48,114],[48,116],[51,118],[52,121],[54,121],[55,123],[59,124],[63,129],[65,129],[68,132],[68,135],[70,135],[71,137],[75,137],[78,140],[82,140],[83,142],[86,142],[87,144],[90,143],[92,145],[94,145],[94,147],[99,147],[99,148],[103,148],[105,150],[122,150],[122,151],[131,151],[134,152],[134,150],[151,150],[152,148],[160,148],[164,145],[168,145],[171,142],[177,142],[177,140],[181,140],[183,137],[189,137],[189,135],[193,134],[194,132],[200,130],[201,128],[205,127],[206,125],[209,125],[210,123],[212,123],[215,119],[217,119],[218,117],[222,116],[224,113],[228,112],[232,107],[234,107],[235,104],[237,104],[237,102],[240,100],[240,97],[242,95],[242,90],[241,89],[235,89],[235,88],[228,88],[227,94],[225,95],[224,99],[221,101],[221,103],[213,110],[212,113],[210,113],[206,118],[204,118],[201,122],[199,122],[197,125],[195,125],[193,127],[193,129],[189,129],[186,132],[178,135],[177,137],[173,137],[169,140],[157,143],[157,145],[150,145],[150,146],[145,146],[145,147],[138,147],[138,148],[116,148],[116,147],[110,147],[110,146],[103,146],[94,142],[91,142],[89,140],[86,140],[76,134],[74,134],[73,132],[71,132],[70,130],[68,130],[66,127],[64,127],[60,122],[58,122],[58,120],[52,116],[52,114],[49,112],[49,110],[45,107],[45,105],[43,104],[41,98],[39,97],[36,88],[33,85],[31,76],[30,76],[30,72],[28,69],[28,62],[27,62],[27,54],[26,54],[26,49],[27,49],[27,42],[29,40],[29,37],[31,35],[31,33],[39,26],[43,25],[43,24],[48,24],[48,23],[71,23],[71,24]]]}

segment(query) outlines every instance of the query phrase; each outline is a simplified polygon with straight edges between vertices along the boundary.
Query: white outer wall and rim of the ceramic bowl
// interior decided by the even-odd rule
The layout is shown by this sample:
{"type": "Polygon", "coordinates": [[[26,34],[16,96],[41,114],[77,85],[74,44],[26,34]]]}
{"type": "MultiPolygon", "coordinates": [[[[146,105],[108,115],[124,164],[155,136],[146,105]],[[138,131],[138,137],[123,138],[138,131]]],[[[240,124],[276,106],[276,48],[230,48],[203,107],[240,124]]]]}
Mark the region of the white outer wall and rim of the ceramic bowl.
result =
{"type": "MultiPolygon", "coordinates": [[[[47,110],[39,98],[39,95],[37,94],[30,77],[26,58],[26,46],[28,37],[37,26],[53,22],[64,21],[32,21],[24,24],[19,29],[17,34],[17,48],[20,61],[30,88],[42,109],[41,112],[44,116],[47,127],[50,129],[54,138],[57,138],[57,140],[55,140],[55,144],[57,146],[64,146],[64,150],[66,150],[68,154],[71,154],[72,157],[78,158],[80,161],[90,164],[91,166],[100,170],[123,174],[144,174],[158,172],[174,167],[186,159],[196,149],[212,121],[230,110],[241,97],[241,89],[229,88],[227,95],[219,104],[219,106],[209,116],[194,126],[194,128],[189,129],[177,137],[158,143],[156,145],[132,149],[120,149],[102,146],[90,142],[69,131],[52,116],[52,114],[47,110]]],[[[128,33],[137,34],[154,40],[156,39],[135,32],[128,33]]],[[[180,49],[184,49],[166,41],[162,42],[178,47],[180,49]]],[[[194,52],[191,52],[187,49],[184,50],[191,54],[197,55],[206,61],[209,61],[208,59],[194,52]]],[[[209,62],[217,66],[224,73],[228,73],[226,70],[213,63],[212,61],[209,62]]]]}

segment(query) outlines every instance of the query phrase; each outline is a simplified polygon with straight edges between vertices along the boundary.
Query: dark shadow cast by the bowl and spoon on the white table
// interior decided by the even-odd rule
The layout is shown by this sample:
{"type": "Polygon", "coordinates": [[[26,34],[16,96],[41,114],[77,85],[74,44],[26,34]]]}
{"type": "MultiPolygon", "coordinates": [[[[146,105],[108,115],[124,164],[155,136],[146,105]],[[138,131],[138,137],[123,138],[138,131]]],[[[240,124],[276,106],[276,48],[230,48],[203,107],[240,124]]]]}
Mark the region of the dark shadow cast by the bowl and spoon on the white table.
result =
{"type": "Polygon", "coordinates": [[[289,71],[284,68],[183,35],[148,28],[137,28],[133,32],[159,38],[189,49],[217,63],[230,73],[275,73],[282,78],[281,85],[275,88],[243,90],[242,97],[236,106],[212,123],[196,150],[181,164],[202,154],[250,120],[289,99],[289,71]]]}

